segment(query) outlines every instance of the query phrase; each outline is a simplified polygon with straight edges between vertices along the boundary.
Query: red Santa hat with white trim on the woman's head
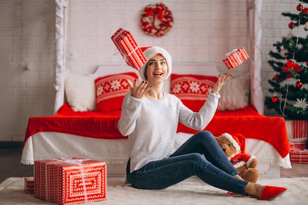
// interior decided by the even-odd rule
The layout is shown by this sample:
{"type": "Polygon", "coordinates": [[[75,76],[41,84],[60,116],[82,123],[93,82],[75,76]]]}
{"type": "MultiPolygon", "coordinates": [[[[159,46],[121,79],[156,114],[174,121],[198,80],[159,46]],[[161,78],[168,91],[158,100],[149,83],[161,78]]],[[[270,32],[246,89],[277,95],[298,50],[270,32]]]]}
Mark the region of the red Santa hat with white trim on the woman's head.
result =
{"type": "Polygon", "coordinates": [[[168,66],[168,73],[166,76],[166,79],[171,75],[171,71],[172,71],[172,59],[170,54],[163,48],[161,47],[157,47],[157,46],[151,46],[151,47],[141,47],[140,48],[141,51],[143,52],[143,54],[145,55],[147,62],[143,64],[143,66],[138,70],[140,77],[143,80],[146,80],[146,77],[144,75],[144,71],[146,69],[146,66],[149,62],[150,59],[152,59],[154,56],[156,56],[157,54],[160,54],[162,57],[164,57],[166,59],[167,62],[167,66],[168,66]]]}

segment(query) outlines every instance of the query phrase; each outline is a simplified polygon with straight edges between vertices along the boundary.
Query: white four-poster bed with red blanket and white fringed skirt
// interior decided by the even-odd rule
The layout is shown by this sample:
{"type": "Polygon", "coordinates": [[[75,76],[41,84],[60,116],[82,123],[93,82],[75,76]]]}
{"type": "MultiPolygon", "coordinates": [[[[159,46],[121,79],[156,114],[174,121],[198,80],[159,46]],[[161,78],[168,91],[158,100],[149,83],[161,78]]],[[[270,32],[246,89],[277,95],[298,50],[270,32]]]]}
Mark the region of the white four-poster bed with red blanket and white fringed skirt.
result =
{"type": "MultiPolygon", "coordinates": [[[[72,73],[67,73],[66,31],[69,24],[69,3],[68,0],[55,0],[55,3],[55,88],[57,90],[54,109],[55,115],[29,118],[21,162],[23,164],[33,164],[35,160],[72,156],[89,158],[106,161],[108,164],[108,177],[125,176],[129,150],[127,137],[122,136],[117,129],[117,121],[120,117],[121,110],[104,112],[104,106],[100,106],[103,107],[103,110],[100,110],[100,112],[85,111],[85,106],[78,107],[78,103],[74,106],[74,101],[72,102],[69,99],[81,96],[79,101],[89,103],[88,107],[86,106],[87,109],[93,110],[95,105],[97,106],[97,102],[95,104],[93,100],[93,93],[96,93],[96,91],[95,84],[90,85],[89,82],[93,82],[97,77],[101,76],[125,72],[136,73],[137,71],[127,67],[123,63],[121,65],[100,65],[93,75],[74,76],[72,73]],[[75,81],[79,83],[83,81],[85,85],[88,85],[88,87],[84,88],[85,90],[80,88],[77,91],[92,94],[89,101],[83,95],[77,94],[76,90],[69,91],[67,90],[68,86],[64,88],[64,84],[66,85],[68,82],[68,76],[73,76],[75,77],[75,81]],[[92,91],[90,92],[89,90],[92,91]],[[76,112],[78,108],[81,112],[76,112]]],[[[246,151],[254,154],[259,162],[257,169],[260,177],[280,177],[280,168],[291,168],[285,121],[282,117],[265,117],[259,114],[263,113],[264,108],[260,85],[260,11],[260,0],[247,0],[247,19],[249,19],[247,25],[249,48],[247,50],[250,56],[250,73],[248,77],[241,76],[238,78],[236,76],[236,78],[232,79],[231,83],[234,85],[224,86],[225,90],[221,90],[220,94],[225,99],[221,98],[219,100],[219,108],[216,116],[205,129],[211,131],[216,136],[224,132],[242,134],[246,137],[246,151]],[[234,90],[229,90],[228,88],[239,89],[234,92],[234,90]],[[242,93],[243,95],[239,97],[232,93],[242,93]],[[237,106],[239,107],[237,108],[237,106]],[[230,107],[234,109],[226,109],[230,107]]],[[[220,74],[215,64],[174,64],[173,73],[203,76],[218,76],[220,74]]],[[[72,86],[72,89],[77,87],[78,84],[72,86]]],[[[163,91],[171,92],[173,90],[171,87],[172,83],[169,79],[166,81],[163,91]]],[[[177,94],[176,91],[175,94],[177,94]]],[[[181,96],[179,95],[179,97],[181,96]]],[[[189,104],[191,102],[191,97],[182,97],[181,99],[182,101],[186,101],[185,103],[189,104]]],[[[202,103],[200,101],[203,99],[200,100],[198,97],[200,96],[197,96],[197,100],[189,104],[189,106],[200,106],[200,103],[202,103]]],[[[107,102],[107,104],[105,103],[105,107],[119,106],[119,102],[121,101],[114,100],[107,102]]],[[[197,109],[197,107],[192,108],[197,109]]],[[[196,130],[191,130],[179,124],[177,140],[174,144],[173,151],[195,132],[196,130]]]]}

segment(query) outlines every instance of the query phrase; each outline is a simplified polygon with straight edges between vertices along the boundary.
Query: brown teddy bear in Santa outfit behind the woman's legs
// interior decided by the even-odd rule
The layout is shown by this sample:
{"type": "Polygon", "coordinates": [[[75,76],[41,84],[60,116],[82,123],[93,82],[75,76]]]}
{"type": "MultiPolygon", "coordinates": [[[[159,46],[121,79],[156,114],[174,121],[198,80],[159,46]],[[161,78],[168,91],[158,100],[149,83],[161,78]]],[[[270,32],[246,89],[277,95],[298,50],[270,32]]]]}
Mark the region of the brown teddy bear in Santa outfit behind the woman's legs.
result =
{"type": "Polygon", "coordinates": [[[258,161],[254,155],[246,153],[245,137],[241,134],[231,136],[224,133],[215,138],[241,177],[246,181],[256,182],[259,177],[259,172],[256,169],[258,161]]]}

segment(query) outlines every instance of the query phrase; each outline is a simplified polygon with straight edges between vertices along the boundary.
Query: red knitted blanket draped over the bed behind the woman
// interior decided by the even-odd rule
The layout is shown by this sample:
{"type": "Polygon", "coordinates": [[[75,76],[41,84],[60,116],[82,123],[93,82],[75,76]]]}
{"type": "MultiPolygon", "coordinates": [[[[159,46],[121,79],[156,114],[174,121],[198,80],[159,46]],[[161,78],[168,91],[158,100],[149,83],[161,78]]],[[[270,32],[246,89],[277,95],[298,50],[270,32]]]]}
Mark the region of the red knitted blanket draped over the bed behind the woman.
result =
{"type": "MultiPolygon", "coordinates": [[[[29,118],[24,145],[37,132],[62,132],[110,140],[126,139],[117,127],[120,116],[121,111],[73,112],[65,103],[56,115],[29,118]]],[[[240,133],[246,138],[266,141],[275,147],[281,157],[285,157],[290,150],[284,118],[260,115],[252,104],[237,111],[217,111],[205,130],[209,130],[215,136],[225,132],[240,133]]],[[[179,123],[178,132],[194,134],[198,131],[179,123]]]]}

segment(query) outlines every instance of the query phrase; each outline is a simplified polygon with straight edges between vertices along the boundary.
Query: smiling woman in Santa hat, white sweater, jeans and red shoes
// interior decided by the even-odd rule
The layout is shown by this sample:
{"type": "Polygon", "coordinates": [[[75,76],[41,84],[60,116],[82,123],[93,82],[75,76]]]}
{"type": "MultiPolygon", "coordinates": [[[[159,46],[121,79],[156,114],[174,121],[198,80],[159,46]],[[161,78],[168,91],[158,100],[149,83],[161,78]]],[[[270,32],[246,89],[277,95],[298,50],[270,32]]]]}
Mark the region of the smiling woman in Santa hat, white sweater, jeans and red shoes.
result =
{"type": "Polygon", "coordinates": [[[217,188],[260,200],[272,200],[286,191],[244,181],[208,131],[198,132],[170,153],[178,122],[203,130],[214,117],[220,88],[234,75],[219,75],[204,106],[194,113],[176,96],[162,92],[172,71],[170,54],[160,47],[142,50],[147,58],[139,69],[143,81],[139,85],[137,80],[128,81],[130,92],[124,97],[118,122],[130,146],[125,183],[140,189],[164,189],[197,176],[217,188]]]}

